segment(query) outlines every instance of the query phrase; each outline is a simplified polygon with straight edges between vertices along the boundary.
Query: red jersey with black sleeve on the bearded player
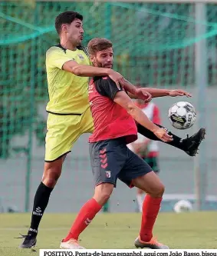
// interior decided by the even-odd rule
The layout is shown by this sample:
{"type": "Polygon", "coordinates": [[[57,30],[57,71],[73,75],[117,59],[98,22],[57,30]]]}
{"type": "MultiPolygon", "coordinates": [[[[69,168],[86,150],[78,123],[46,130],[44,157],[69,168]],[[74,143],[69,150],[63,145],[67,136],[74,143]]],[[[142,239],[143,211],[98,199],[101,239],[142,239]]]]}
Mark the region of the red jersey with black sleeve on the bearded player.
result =
{"type": "Polygon", "coordinates": [[[113,101],[120,90],[123,91],[109,77],[95,77],[90,81],[88,93],[94,118],[94,133],[89,142],[125,137],[128,144],[137,139],[134,119],[113,101]]]}

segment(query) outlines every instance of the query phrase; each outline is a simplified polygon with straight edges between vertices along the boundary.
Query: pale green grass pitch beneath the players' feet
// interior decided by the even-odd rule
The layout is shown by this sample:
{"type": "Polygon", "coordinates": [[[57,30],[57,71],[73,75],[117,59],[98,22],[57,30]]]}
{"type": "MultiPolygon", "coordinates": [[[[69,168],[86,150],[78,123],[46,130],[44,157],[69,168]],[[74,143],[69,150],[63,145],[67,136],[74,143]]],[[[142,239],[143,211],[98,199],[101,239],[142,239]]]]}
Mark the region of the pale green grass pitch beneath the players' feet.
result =
{"type": "MultiPolygon", "coordinates": [[[[38,233],[36,251],[18,249],[19,233],[26,234],[30,214],[0,214],[0,255],[38,255],[38,249],[58,248],[74,220],[74,214],[44,214],[38,233]]],[[[133,248],[140,231],[141,215],[137,213],[98,214],[81,234],[85,248],[133,248]]],[[[169,248],[217,248],[217,213],[160,213],[154,234],[169,248]]]]}

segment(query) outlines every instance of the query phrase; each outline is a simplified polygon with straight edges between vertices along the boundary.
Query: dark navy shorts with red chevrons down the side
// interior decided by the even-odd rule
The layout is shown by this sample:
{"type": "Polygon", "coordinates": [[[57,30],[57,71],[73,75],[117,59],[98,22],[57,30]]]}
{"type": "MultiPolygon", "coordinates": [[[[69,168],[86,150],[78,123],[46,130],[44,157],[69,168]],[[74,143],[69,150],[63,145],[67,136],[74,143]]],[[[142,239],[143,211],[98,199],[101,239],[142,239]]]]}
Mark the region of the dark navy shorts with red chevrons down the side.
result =
{"type": "Polygon", "coordinates": [[[127,148],[124,138],[90,143],[90,162],[95,186],[111,183],[116,187],[117,178],[130,188],[134,178],[146,175],[150,165],[127,148]]]}

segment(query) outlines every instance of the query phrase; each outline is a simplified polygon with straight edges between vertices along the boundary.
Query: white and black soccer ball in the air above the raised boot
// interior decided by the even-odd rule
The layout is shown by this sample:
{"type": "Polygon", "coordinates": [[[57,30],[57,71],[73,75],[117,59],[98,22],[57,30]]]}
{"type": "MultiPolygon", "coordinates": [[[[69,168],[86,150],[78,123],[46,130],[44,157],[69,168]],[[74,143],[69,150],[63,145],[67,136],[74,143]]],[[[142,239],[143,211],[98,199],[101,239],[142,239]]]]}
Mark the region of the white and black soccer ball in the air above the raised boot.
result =
{"type": "Polygon", "coordinates": [[[169,108],[168,118],[176,129],[188,129],[196,121],[196,110],[189,102],[179,101],[169,108]]]}

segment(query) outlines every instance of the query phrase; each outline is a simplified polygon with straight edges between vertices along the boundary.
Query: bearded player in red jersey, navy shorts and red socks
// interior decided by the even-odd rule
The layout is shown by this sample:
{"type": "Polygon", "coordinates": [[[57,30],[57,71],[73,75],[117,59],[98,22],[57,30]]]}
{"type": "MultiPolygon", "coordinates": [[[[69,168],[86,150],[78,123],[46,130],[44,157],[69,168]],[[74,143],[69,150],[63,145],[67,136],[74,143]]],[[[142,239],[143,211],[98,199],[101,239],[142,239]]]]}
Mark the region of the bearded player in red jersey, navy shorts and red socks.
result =
{"type": "MultiPolygon", "coordinates": [[[[112,43],[104,38],[94,38],[89,44],[90,60],[94,66],[112,68],[112,43]]],[[[136,122],[152,131],[162,141],[172,141],[171,135],[150,121],[122,88],[109,77],[94,77],[88,88],[90,108],[94,118],[94,133],[90,136],[90,162],[94,174],[94,196],[84,204],[70,233],[61,242],[63,249],[83,248],[77,243],[97,212],[110,198],[117,178],[130,188],[146,191],[137,248],[166,249],[153,238],[153,225],[159,212],[164,186],[149,165],[127,148],[136,141],[136,122]]]]}

